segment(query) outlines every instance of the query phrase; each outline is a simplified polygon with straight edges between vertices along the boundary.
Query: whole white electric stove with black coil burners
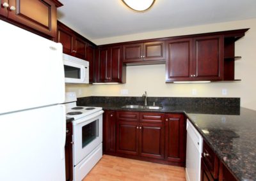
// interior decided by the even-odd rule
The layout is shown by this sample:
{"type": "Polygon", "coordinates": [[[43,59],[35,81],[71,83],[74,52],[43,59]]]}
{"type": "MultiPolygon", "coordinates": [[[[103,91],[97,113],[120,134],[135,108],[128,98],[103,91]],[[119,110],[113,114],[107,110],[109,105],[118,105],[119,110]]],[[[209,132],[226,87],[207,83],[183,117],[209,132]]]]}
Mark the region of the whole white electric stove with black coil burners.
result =
{"type": "Polygon", "coordinates": [[[100,107],[77,106],[76,92],[67,92],[66,116],[73,123],[74,180],[81,181],[102,157],[102,114],[100,107]]]}

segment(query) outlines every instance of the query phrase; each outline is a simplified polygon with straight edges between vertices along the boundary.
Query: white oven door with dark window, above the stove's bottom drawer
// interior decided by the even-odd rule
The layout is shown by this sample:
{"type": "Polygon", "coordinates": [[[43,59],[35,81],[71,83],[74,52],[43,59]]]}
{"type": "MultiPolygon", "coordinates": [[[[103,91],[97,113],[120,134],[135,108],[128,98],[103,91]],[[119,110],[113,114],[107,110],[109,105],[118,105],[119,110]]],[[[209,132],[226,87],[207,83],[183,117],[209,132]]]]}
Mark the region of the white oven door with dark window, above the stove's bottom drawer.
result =
{"type": "Polygon", "coordinates": [[[74,166],[102,143],[102,113],[96,112],[73,121],[74,166]]]}

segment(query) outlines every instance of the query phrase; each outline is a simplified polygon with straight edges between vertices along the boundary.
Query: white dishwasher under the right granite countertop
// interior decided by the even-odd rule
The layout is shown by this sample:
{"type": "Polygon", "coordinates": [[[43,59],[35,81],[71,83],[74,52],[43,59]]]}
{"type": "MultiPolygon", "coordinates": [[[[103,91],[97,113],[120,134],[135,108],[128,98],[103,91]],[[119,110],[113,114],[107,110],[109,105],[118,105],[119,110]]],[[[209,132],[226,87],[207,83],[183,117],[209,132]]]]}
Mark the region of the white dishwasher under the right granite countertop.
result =
{"type": "Polygon", "coordinates": [[[186,180],[200,181],[203,138],[187,119],[186,180]]]}

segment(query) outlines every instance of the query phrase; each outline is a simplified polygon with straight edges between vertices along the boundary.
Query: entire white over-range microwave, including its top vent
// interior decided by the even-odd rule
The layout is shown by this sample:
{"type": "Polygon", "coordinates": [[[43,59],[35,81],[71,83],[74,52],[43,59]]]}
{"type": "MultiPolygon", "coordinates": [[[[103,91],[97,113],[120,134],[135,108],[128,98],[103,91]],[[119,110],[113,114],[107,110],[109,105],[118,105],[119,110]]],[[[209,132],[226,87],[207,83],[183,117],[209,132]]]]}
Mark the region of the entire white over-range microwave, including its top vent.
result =
{"type": "Polygon", "coordinates": [[[63,54],[66,83],[89,83],[89,62],[63,54]]]}

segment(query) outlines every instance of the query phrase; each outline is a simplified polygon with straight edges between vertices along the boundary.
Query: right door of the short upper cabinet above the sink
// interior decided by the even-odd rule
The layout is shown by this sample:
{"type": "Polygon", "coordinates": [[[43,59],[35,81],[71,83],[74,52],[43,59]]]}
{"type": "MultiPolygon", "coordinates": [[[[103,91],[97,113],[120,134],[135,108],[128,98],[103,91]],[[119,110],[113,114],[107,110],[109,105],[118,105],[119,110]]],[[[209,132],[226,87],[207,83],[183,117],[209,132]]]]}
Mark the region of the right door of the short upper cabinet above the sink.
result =
{"type": "Polygon", "coordinates": [[[162,61],[165,57],[164,41],[143,43],[143,61],[162,61]]]}

